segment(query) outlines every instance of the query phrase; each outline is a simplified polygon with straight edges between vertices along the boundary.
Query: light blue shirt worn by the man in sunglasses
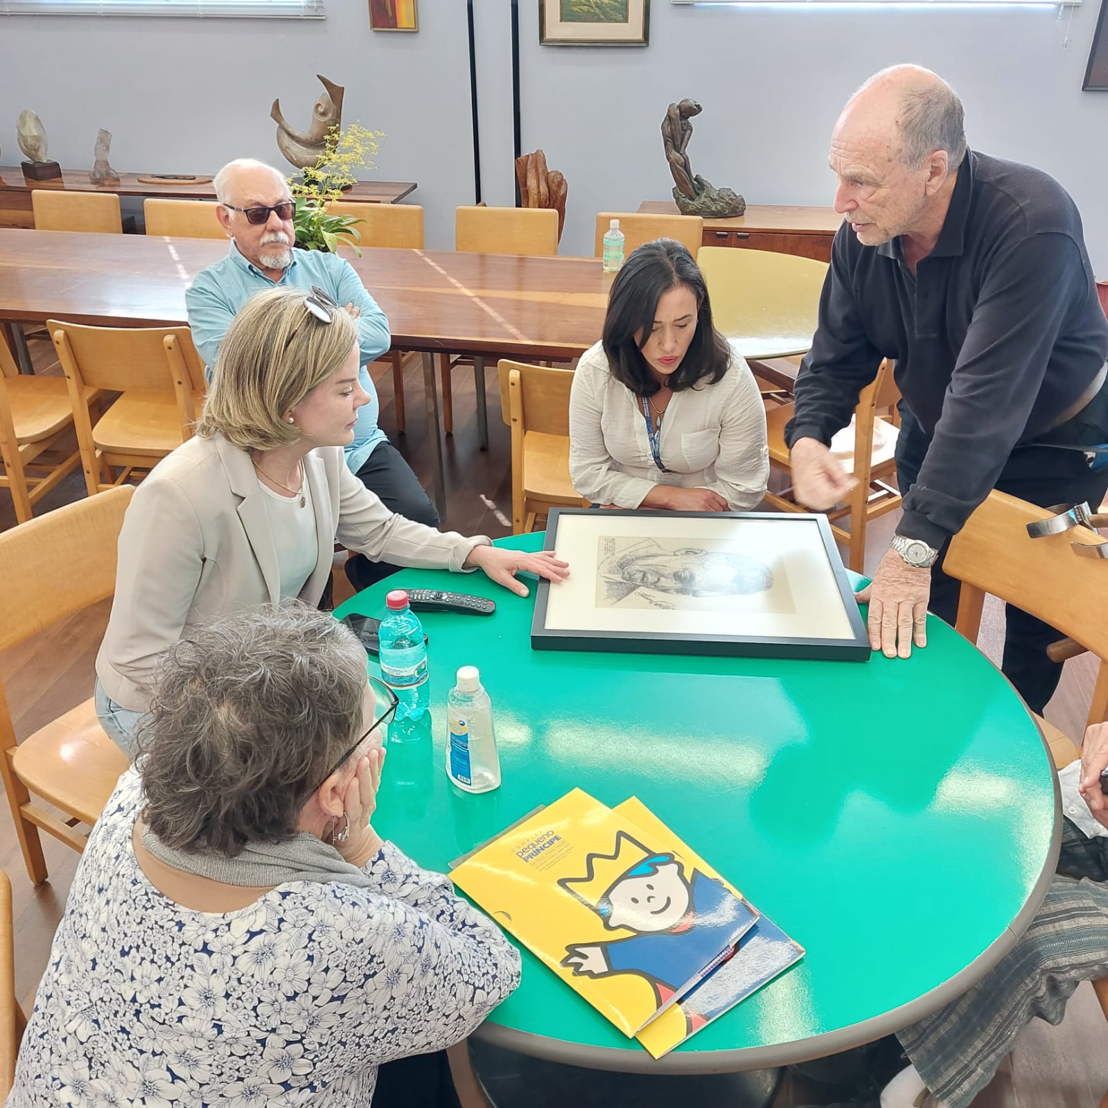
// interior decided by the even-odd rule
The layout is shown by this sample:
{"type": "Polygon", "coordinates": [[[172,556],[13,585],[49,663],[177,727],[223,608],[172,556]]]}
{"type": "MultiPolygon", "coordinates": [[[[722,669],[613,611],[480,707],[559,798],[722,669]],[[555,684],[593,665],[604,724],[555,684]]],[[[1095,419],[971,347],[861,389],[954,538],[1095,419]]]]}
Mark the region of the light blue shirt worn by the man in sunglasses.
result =
{"type": "Polygon", "coordinates": [[[389,334],[389,321],[384,318],[384,312],[366,291],[361,278],[346,258],[319,250],[293,250],[291,265],[281,274],[280,280],[273,281],[238,253],[238,247],[232,239],[227,257],[198,273],[196,280],[185,293],[188,326],[192,328],[193,342],[207,367],[205,372],[208,380],[212,380],[219,343],[223,342],[235,312],[255,293],[275,285],[291,285],[294,288],[305,289],[318,285],[338,304],[355,304],[361,309],[358,318],[358,346],[362,365],[358,381],[369,394],[369,403],[358,409],[353,442],[346,448],[347,465],[351,472],[357,473],[378,443],[386,441],[384,432],[377,425],[381,406],[366,363],[380,358],[389,349],[392,336],[389,334]]]}

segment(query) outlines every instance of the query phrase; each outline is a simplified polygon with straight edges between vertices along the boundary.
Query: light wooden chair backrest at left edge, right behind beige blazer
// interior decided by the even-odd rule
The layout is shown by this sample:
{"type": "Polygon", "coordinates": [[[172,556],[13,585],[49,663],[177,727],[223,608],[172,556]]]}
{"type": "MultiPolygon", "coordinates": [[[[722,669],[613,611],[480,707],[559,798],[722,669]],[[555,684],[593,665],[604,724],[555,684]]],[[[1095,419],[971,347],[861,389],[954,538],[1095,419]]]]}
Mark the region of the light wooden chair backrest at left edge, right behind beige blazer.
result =
{"type": "Polygon", "coordinates": [[[120,529],[133,492],[120,485],[0,533],[0,650],[115,592],[120,529]]]}

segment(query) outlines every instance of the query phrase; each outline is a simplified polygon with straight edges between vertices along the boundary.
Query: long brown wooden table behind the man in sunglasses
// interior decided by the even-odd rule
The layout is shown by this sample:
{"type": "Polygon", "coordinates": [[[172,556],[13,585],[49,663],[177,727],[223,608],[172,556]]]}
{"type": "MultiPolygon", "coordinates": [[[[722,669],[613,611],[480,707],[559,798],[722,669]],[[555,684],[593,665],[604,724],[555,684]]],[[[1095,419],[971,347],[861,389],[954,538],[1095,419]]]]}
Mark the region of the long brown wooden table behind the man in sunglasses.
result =
{"type": "MultiPolygon", "coordinates": [[[[179,327],[185,289],[226,254],[223,243],[143,235],[0,228],[0,322],[65,319],[103,327],[179,327]]],[[[435,352],[472,353],[478,397],[483,359],[572,359],[601,336],[612,275],[597,258],[453,250],[341,252],[389,320],[392,345],[423,355],[433,493],[445,514],[435,352]]],[[[813,306],[814,318],[814,306],[813,306]]],[[[729,335],[749,358],[792,353],[760,335],[757,316],[729,335]]],[[[484,404],[479,434],[488,442],[484,404]]]]}

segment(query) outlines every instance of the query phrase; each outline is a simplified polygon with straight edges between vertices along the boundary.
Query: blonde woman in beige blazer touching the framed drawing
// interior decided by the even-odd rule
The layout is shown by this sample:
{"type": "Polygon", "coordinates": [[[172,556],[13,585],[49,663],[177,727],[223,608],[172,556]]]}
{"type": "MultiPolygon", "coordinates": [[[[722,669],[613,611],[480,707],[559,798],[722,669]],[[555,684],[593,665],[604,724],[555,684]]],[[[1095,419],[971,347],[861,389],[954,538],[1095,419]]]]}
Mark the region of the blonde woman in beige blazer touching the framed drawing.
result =
{"type": "Polygon", "coordinates": [[[358,368],[353,319],[318,289],[271,289],[235,317],[196,435],[138,486],[120,534],[96,708],[129,753],[166,648],[226,612],[318,604],[336,541],[375,562],[481,568],[521,596],[517,572],[565,576],[550,552],[394,515],[350,473],[342,448],[369,399],[358,368]]]}

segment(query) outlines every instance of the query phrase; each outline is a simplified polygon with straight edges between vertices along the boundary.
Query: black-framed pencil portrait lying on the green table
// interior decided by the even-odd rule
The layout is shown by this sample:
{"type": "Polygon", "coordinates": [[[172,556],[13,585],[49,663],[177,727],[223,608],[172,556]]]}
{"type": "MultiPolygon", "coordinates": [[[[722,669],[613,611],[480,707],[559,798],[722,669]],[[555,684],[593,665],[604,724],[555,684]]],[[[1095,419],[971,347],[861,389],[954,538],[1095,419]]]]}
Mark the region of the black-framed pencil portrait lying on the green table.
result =
{"type": "Polygon", "coordinates": [[[870,643],[823,515],[553,509],[536,650],[865,661],[870,643]]]}

